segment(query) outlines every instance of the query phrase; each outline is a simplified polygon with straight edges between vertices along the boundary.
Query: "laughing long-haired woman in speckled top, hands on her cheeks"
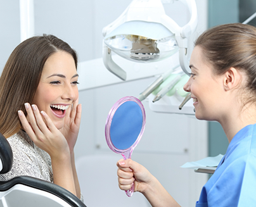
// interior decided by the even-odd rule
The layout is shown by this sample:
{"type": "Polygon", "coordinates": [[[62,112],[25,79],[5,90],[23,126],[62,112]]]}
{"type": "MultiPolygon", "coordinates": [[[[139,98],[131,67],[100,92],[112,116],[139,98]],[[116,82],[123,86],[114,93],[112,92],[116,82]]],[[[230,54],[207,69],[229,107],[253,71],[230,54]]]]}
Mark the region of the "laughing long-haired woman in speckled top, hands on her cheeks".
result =
{"type": "Polygon", "coordinates": [[[54,35],[14,49],[0,77],[0,132],[13,166],[0,180],[28,175],[82,199],[74,159],[82,111],[77,78],[77,54],[54,35]]]}

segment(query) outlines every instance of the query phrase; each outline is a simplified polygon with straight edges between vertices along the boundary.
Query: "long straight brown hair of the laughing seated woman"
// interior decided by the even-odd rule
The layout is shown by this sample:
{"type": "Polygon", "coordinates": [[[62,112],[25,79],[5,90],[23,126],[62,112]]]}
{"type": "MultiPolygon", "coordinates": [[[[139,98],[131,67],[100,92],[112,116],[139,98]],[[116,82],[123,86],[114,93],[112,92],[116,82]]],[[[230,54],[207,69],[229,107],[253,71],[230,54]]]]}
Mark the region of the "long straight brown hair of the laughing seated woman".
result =
{"type": "Polygon", "coordinates": [[[0,132],[6,138],[21,129],[18,110],[25,113],[24,103],[32,103],[44,63],[57,51],[71,54],[77,68],[74,49],[54,35],[31,37],[11,53],[0,77],[0,132]]]}

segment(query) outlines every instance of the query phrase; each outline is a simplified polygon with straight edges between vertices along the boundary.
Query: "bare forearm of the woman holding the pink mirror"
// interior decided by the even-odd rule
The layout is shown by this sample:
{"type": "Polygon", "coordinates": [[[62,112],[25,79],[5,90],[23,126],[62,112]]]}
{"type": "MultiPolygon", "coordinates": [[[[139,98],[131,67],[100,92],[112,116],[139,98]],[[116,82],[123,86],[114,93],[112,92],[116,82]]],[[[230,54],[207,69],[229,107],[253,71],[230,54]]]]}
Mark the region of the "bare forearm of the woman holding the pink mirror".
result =
{"type": "Polygon", "coordinates": [[[152,207],[180,207],[155,177],[143,194],[152,207]]]}

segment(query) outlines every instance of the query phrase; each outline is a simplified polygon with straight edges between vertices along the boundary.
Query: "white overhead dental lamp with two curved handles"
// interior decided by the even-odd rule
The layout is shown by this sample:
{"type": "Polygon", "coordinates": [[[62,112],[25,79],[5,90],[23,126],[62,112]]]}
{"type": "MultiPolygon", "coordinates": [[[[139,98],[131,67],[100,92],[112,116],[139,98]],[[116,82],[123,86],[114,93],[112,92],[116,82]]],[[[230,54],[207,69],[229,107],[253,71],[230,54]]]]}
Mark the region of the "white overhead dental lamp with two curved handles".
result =
{"type": "Polygon", "coordinates": [[[195,0],[179,1],[188,6],[191,14],[184,27],[165,15],[161,0],[132,1],[117,20],[103,28],[106,68],[126,80],[126,72],[112,60],[112,51],[139,63],[164,60],[179,51],[179,63],[188,74],[188,37],[195,32],[197,11],[195,0]]]}

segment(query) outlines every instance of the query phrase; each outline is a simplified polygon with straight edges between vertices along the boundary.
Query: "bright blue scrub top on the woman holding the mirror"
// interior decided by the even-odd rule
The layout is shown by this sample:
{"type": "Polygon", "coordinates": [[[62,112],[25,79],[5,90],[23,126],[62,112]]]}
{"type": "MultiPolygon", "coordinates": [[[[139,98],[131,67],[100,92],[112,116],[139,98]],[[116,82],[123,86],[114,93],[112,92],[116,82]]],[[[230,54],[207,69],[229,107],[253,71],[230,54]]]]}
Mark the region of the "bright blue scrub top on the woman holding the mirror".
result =
{"type": "Polygon", "coordinates": [[[256,206],[256,124],[232,139],[196,207],[256,206]]]}

